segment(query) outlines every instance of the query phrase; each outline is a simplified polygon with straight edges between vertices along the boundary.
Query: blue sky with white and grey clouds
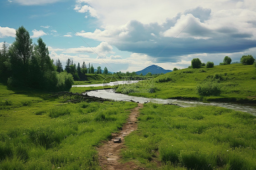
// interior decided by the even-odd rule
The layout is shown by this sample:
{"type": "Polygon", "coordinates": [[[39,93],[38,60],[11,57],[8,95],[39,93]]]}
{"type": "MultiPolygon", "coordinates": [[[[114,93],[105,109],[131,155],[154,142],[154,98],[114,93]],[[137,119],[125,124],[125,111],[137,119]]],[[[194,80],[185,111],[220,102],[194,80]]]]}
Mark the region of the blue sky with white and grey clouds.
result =
{"type": "Polygon", "coordinates": [[[255,0],[1,0],[0,46],[23,25],[54,61],[109,71],[256,56],[255,0]]]}

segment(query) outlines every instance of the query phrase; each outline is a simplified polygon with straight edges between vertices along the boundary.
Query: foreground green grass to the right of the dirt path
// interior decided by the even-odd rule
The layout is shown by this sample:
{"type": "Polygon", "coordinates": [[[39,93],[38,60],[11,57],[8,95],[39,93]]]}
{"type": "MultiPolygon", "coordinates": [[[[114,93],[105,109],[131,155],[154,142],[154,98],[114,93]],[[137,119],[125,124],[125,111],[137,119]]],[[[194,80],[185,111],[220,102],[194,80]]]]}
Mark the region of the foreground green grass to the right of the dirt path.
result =
{"type": "Polygon", "coordinates": [[[221,107],[148,103],[123,161],[148,169],[255,170],[256,116],[221,107]]]}

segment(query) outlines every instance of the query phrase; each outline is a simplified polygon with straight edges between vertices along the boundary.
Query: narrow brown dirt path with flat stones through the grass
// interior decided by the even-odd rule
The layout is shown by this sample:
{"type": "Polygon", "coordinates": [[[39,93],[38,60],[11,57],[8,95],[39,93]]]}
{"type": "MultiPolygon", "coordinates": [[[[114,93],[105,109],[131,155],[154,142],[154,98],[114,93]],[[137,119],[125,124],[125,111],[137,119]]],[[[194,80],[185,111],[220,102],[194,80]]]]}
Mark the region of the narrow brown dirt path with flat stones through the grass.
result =
{"type": "Polygon", "coordinates": [[[121,164],[120,150],[124,147],[124,136],[129,135],[132,131],[137,130],[137,117],[139,115],[139,109],[143,107],[143,104],[139,103],[134,108],[128,118],[128,122],[123,125],[123,129],[118,134],[112,134],[113,139],[107,141],[104,145],[100,146],[98,150],[99,164],[103,170],[142,170],[143,168],[138,167],[134,162],[126,162],[121,164]],[[119,138],[121,142],[118,143],[119,138]],[[116,140],[115,143],[114,140],[116,140]]]}

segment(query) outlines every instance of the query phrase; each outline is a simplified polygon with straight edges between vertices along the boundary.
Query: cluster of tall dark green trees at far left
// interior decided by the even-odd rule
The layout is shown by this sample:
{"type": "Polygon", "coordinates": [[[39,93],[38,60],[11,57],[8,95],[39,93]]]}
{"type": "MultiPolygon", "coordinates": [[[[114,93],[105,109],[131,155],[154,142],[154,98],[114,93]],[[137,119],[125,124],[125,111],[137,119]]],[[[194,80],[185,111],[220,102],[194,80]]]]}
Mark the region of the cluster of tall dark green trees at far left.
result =
{"type": "Polygon", "coordinates": [[[30,87],[61,91],[72,87],[72,75],[57,70],[49,56],[48,47],[38,38],[32,44],[29,32],[16,30],[15,41],[7,48],[4,42],[0,52],[0,81],[10,87],[30,87]]]}

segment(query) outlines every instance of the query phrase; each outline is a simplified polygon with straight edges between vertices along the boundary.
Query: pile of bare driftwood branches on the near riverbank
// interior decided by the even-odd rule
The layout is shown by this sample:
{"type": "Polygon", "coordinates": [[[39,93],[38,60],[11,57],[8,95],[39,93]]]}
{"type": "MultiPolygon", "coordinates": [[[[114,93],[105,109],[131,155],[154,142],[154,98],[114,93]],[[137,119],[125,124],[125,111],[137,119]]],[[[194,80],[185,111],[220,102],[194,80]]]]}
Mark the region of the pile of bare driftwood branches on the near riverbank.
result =
{"type": "Polygon", "coordinates": [[[50,95],[49,97],[63,97],[64,99],[67,98],[67,97],[70,97],[70,100],[67,100],[67,102],[71,102],[71,103],[81,102],[82,100],[114,101],[114,100],[110,100],[110,99],[103,99],[101,97],[87,95],[87,93],[86,94],[79,94],[79,93],[72,93],[72,92],[67,92],[67,91],[57,92],[57,93],[54,93],[54,94],[50,95]],[[75,96],[76,96],[76,99],[71,99],[71,97],[75,97],[75,96]]]}

